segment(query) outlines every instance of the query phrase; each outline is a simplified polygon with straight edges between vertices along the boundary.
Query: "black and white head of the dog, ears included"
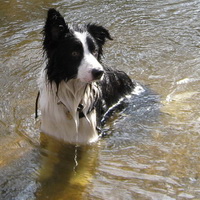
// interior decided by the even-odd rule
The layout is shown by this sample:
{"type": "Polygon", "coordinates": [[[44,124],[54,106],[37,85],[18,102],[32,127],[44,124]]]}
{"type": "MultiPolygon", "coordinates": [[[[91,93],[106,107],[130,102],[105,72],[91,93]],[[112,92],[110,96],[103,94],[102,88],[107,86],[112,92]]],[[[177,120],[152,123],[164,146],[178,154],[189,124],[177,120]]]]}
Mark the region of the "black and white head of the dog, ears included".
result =
{"type": "Polygon", "coordinates": [[[50,82],[59,84],[62,80],[77,78],[90,83],[102,77],[102,47],[106,39],[112,40],[104,27],[69,26],[58,11],[49,9],[43,33],[50,82]]]}

